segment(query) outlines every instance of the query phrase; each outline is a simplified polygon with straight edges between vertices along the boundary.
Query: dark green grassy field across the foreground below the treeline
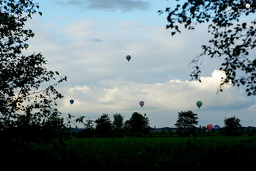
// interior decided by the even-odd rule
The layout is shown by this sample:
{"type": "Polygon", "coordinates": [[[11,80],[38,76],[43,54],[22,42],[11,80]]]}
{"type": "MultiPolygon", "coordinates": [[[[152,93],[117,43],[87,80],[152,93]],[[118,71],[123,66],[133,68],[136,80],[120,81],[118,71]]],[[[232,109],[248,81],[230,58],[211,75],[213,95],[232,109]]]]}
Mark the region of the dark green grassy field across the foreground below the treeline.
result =
{"type": "MultiPolygon", "coordinates": [[[[16,157],[22,166],[73,169],[174,169],[250,167],[256,137],[157,137],[68,139],[63,145],[29,145],[16,157]]],[[[13,158],[12,158],[13,159],[13,158]]]]}

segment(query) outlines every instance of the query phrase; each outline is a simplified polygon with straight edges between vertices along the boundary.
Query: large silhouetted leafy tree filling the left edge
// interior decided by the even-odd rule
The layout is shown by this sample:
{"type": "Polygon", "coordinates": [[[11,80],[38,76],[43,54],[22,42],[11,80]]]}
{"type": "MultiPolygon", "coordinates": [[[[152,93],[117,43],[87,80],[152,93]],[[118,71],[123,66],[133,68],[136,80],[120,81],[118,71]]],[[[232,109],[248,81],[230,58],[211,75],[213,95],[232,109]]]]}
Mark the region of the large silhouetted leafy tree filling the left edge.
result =
{"type": "Polygon", "coordinates": [[[54,84],[59,73],[47,70],[41,53],[22,54],[34,36],[24,28],[26,21],[38,8],[32,0],[0,1],[0,133],[21,139],[33,139],[46,130],[43,135],[53,135],[64,128],[54,107],[63,96],[55,87],[67,77],[54,84]]]}

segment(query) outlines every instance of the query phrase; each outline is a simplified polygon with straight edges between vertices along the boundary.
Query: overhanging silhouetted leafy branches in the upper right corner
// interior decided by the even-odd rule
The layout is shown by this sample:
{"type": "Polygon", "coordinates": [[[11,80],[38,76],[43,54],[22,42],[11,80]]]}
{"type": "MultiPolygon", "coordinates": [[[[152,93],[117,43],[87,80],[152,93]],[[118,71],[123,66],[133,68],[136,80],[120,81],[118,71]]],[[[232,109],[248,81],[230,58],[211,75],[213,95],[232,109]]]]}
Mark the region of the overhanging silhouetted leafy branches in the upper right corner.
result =
{"type": "MultiPolygon", "coordinates": [[[[176,0],[178,2],[178,0],[176,0]]],[[[172,3],[173,1],[171,1],[172,3]]],[[[168,25],[171,36],[181,32],[179,26],[184,24],[185,29],[195,29],[196,24],[209,22],[208,32],[213,37],[208,45],[202,45],[202,53],[192,60],[194,70],[192,79],[199,79],[202,57],[207,55],[211,58],[223,58],[220,70],[227,75],[220,84],[233,84],[239,87],[244,85],[247,95],[256,95],[256,59],[252,52],[256,45],[254,17],[247,18],[249,22],[239,22],[241,17],[255,13],[254,0],[247,1],[182,1],[183,4],[175,8],[159,10],[168,13],[168,25]],[[246,8],[246,4],[251,8],[246,8]],[[237,22],[237,23],[235,23],[237,22]]],[[[200,81],[200,80],[199,80],[200,81]]]]}

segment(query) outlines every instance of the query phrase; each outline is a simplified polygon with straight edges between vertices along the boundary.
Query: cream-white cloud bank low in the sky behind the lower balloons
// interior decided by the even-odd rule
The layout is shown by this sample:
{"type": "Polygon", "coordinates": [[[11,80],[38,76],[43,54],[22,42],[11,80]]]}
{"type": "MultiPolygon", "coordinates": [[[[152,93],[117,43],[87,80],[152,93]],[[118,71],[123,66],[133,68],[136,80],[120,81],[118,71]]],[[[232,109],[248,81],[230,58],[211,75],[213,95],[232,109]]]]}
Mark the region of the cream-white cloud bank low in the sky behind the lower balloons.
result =
{"type": "Polygon", "coordinates": [[[223,93],[216,94],[220,77],[223,77],[221,71],[214,70],[212,77],[201,78],[202,83],[170,80],[165,83],[136,84],[125,80],[104,80],[98,87],[71,87],[61,111],[70,109],[67,105],[70,97],[78,101],[73,104],[77,112],[132,112],[139,108],[139,101],[145,102],[144,108],[148,111],[194,110],[195,102],[199,100],[203,102],[203,108],[216,111],[246,105],[249,100],[235,87],[227,86],[223,93]]]}

